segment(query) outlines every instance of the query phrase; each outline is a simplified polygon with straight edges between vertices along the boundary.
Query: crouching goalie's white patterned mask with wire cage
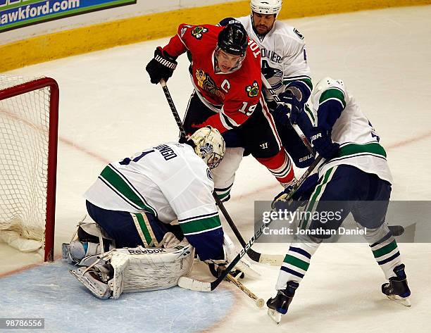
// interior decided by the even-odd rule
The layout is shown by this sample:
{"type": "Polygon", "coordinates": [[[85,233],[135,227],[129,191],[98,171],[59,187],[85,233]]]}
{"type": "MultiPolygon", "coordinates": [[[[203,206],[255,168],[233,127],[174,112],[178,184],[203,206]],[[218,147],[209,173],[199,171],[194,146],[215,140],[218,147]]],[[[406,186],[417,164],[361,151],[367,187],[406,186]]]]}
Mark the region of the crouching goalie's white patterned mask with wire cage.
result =
{"type": "Polygon", "coordinates": [[[216,128],[199,128],[190,137],[194,152],[210,169],[216,168],[225,155],[225,140],[216,128]]]}

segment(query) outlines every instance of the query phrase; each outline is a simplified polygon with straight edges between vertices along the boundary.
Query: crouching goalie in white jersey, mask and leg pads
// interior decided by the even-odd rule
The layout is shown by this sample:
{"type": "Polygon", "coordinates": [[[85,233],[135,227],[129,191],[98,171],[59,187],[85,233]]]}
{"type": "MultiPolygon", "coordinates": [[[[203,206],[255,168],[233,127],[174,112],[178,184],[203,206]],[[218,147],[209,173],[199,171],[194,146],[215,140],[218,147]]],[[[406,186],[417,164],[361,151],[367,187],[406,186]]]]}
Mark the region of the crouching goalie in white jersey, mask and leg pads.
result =
{"type": "Polygon", "coordinates": [[[85,193],[96,224],[81,223],[63,249],[86,266],[72,274],[95,296],[116,299],[173,287],[192,268],[194,249],[207,263],[227,263],[235,249],[223,234],[210,171],[224,153],[223,137],[208,126],[185,144],[159,144],[107,165],[85,193]]]}

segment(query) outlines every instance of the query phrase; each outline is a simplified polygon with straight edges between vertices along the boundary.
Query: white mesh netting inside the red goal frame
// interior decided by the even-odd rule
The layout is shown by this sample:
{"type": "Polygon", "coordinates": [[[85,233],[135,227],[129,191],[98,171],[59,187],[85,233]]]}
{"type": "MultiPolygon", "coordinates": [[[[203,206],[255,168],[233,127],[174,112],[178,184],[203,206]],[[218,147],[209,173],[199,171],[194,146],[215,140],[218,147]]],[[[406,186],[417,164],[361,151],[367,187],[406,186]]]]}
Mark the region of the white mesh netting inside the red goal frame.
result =
{"type": "MultiPolygon", "coordinates": [[[[0,75],[0,90],[35,79],[0,75]]],[[[44,246],[49,99],[45,87],[0,101],[0,239],[21,251],[44,246]]]]}

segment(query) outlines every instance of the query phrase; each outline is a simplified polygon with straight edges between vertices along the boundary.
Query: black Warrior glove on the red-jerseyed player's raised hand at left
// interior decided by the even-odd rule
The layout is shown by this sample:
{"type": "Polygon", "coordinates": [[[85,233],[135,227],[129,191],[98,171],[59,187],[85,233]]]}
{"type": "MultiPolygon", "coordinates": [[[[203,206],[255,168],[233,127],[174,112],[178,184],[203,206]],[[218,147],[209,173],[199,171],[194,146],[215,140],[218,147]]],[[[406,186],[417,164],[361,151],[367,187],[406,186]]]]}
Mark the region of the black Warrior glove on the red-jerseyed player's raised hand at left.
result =
{"type": "Polygon", "coordinates": [[[163,51],[160,46],[154,51],[154,58],[146,65],[151,83],[158,84],[161,79],[168,81],[177,67],[176,58],[163,51]]]}

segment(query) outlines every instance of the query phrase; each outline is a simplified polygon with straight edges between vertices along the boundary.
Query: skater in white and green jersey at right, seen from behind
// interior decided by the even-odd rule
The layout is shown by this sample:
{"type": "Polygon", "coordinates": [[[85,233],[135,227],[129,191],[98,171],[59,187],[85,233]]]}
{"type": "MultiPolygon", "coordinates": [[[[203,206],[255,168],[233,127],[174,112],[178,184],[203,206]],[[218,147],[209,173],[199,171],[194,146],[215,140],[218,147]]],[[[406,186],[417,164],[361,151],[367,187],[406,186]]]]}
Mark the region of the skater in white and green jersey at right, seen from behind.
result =
{"type": "MultiPolygon", "coordinates": [[[[364,237],[388,280],[382,285],[383,294],[409,306],[410,289],[404,264],[385,222],[392,175],[380,138],[342,81],[330,77],[321,80],[311,101],[317,122],[304,132],[310,134],[314,149],[325,160],[318,173],[307,179],[308,184],[316,180],[315,187],[307,189],[304,182],[293,197],[299,201],[309,199],[305,212],[311,214],[304,215],[299,223],[306,233],[299,234],[289,247],[275,286],[277,296],[267,303],[268,314],[280,322],[308,270],[311,256],[320,242],[330,237],[327,231],[338,230],[349,213],[359,227],[366,228],[364,237]],[[322,212],[337,212],[340,218],[322,221],[311,218],[323,216],[322,212]]],[[[289,189],[275,198],[275,208],[292,210],[292,202],[285,201],[287,193],[289,189]]]]}

